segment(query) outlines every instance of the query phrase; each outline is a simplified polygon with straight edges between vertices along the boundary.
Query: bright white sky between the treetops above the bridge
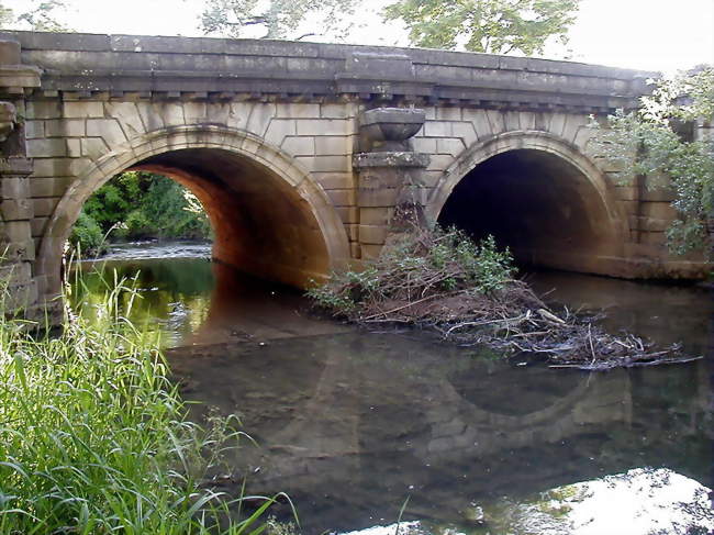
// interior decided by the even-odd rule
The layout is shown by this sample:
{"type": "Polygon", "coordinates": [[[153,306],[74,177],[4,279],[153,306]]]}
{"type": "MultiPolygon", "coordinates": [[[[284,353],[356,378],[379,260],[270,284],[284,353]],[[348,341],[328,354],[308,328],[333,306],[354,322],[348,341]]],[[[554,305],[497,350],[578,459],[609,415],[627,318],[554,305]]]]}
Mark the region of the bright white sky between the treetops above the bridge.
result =
{"type": "MultiPolygon", "coordinates": [[[[65,0],[58,19],[90,33],[198,36],[203,0],[65,0]]],[[[31,0],[4,0],[16,11],[31,0]]],[[[408,46],[398,23],[386,25],[379,8],[388,0],[365,0],[354,44],[408,46]]],[[[311,41],[313,37],[305,40],[311,41]]],[[[568,57],[576,62],[673,74],[714,64],[714,0],[582,0],[570,30],[568,57]]],[[[561,59],[551,47],[546,57],[561,59]]]]}

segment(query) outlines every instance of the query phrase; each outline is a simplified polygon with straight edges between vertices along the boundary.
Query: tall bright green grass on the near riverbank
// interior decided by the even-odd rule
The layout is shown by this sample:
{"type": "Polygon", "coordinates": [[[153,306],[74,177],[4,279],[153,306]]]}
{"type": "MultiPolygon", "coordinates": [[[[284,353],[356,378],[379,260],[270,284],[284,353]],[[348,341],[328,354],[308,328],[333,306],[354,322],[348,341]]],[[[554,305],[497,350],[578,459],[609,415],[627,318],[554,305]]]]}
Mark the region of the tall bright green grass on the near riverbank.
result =
{"type": "Polygon", "coordinates": [[[272,499],[235,520],[241,499],[204,488],[239,433],[186,420],[127,294],[53,336],[0,314],[0,534],[260,533],[272,499]]]}

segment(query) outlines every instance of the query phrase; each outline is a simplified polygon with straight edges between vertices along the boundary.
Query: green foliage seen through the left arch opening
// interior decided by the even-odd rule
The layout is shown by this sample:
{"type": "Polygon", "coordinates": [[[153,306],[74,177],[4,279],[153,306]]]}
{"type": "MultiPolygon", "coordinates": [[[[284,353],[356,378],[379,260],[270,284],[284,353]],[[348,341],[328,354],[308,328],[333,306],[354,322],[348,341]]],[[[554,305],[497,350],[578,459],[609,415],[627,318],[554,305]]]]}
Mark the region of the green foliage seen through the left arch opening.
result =
{"type": "Polygon", "coordinates": [[[193,196],[167,177],[123,172],[87,200],[70,242],[92,252],[99,246],[98,229],[100,238],[207,238],[211,226],[199,208],[193,196]]]}

